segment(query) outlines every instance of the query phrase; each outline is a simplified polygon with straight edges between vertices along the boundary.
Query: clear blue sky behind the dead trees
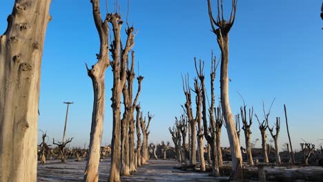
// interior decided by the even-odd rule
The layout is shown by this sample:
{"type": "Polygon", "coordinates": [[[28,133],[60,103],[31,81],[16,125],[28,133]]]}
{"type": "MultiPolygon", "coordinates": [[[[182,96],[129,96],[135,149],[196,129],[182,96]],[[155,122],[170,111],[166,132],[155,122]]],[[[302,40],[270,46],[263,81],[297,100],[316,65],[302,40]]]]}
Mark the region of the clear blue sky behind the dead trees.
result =
{"type": "MultiPolygon", "coordinates": [[[[122,0],[120,5],[124,18],[126,2],[122,0]]],[[[6,18],[13,3],[13,0],[1,3],[0,32],[6,30],[6,18]]],[[[320,143],[317,139],[323,139],[321,4],[318,0],[239,1],[230,33],[233,113],[236,114],[242,105],[237,91],[260,116],[262,100],[269,106],[275,97],[270,122],[273,123],[275,117],[282,117],[282,144],[286,142],[283,109],[286,103],[294,148],[299,148],[301,138],[317,144],[320,143]]],[[[113,1],[110,1],[110,10],[112,7],[113,1]]],[[[106,12],[102,0],[101,11],[102,14],[106,12]]],[[[50,14],[52,21],[46,33],[41,68],[39,129],[47,130],[50,139],[61,140],[66,114],[63,101],[74,101],[66,135],[75,137],[72,145],[83,146],[89,142],[93,100],[92,83],[84,62],[95,63],[95,54],[99,51],[91,4],[89,0],[53,0],[50,14]]],[[[140,63],[139,72],[145,77],[141,108],[155,114],[150,126],[150,141],[171,141],[167,128],[173,125],[174,117],[180,114],[180,105],[184,103],[181,72],[189,72],[193,79],[193,58],[196,56],[206,61],[208,76],[211,50],[220,54],[215,35],[210,31],[206,0],[130,1],[129,21],[139,30],[134,50],[136,61],[140,63]]],[[[215,83],[218,96],[218,78],[215,83]]],[[[110,143],[111,139],[111,87],[109,68],[103,144],[110,143]]],[[[258,130],[255,121],[253,140],[260,138],[258,130]]],[[[228,145],[225,128],[222,141],[228,145]]]]}

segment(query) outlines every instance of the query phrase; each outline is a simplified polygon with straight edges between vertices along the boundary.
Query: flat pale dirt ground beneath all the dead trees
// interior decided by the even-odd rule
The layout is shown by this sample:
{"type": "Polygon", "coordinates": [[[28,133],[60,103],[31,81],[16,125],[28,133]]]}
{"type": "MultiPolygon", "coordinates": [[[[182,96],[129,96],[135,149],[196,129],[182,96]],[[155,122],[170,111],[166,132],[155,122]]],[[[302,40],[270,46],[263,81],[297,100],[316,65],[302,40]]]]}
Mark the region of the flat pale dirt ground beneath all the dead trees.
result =
{"type": "MultiPolygon", "coordinates": [[[[45,165],[38,165],[37,181],[82,181],[86,161],[77,162],[67,160],[48,161],[45,165]]],[[[230,169],[230,163],[225,162],[224,168],[230,169]]],[[[224,181],[227,177],[214,178],[208,172],[186,172],[178,170],[179,163],[175,160],[150,160],[149,164],[141,166],[130,177],[121,177],[121,181],[224,181]],[[175,167],[175,168],[174,168],[175,167]]],[[[99,181],[107,181],[110,171],[110,158],[99,165],[99,181]]],[[[257,181],[257,167],[245,168],[248,181],[257,181]]],[[[320,166],[294,166],[265,168],[267,181],[323,181],[323,168],[320,166]]],[[[221,169],[220,169],[221,172],[221,169]]],[[[228,173],[228,172],[222,172],[228,173]]],[[[228,174],[226,174],[228,175],[228,174]]]]}

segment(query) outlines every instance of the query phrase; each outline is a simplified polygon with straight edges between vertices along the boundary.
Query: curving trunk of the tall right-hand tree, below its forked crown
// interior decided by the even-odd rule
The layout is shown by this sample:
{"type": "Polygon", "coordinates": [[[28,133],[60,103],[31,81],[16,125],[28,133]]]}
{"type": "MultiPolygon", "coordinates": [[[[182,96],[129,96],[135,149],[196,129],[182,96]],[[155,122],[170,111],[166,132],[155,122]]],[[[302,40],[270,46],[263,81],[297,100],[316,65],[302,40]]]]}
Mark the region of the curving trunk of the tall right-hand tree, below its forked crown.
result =
{"type": "Polygon", "coordinates": [[[232,179],[243,179],[242,154],[239,145],[237,131],[235,130],[235,121],[231,112],[230,101],[228,96],[228,34],[222,34],[221,48],[221,103],[224,121],[226,122],[226,131],[228,132],[228,140],[231,147],[232,155],[232,179]]]}

